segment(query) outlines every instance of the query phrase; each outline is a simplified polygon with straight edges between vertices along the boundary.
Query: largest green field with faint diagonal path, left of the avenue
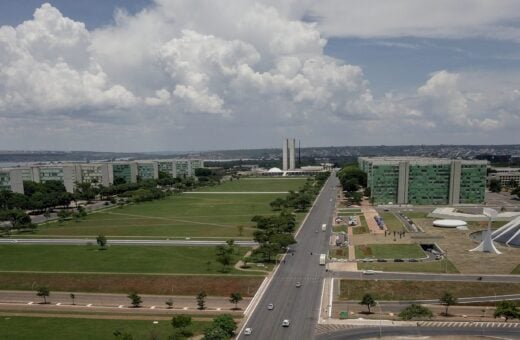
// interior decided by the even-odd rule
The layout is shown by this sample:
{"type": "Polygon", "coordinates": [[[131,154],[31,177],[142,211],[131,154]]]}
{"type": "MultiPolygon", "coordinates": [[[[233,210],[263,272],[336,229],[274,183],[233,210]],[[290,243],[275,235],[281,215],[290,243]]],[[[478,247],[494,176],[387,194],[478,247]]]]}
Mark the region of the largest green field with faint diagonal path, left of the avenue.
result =
{"type": "MultiPolygon", "coordinates": [[[[276,214],[269,202],[284,194],[183,194],[92,213],[81,222],[42,225],[36,235],[170,238],[251,238],[254,215],[276,214]],[[238,225],[245,228],[240,235],[238,225]]],[[[297,215],[300,221],[303,214],[297,215]]]]}

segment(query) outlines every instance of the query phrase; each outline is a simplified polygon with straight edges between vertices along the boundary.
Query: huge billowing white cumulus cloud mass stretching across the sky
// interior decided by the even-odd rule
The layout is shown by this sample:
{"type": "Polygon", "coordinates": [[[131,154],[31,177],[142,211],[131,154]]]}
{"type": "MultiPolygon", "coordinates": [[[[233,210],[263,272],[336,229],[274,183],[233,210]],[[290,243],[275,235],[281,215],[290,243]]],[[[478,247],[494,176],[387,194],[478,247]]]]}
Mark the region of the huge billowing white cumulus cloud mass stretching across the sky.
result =
{"type": "Polygon", "coordinates": [[[313,4],[156,0],[135,15],[119,11],[114,25],[94,31],[44,4],[32,20],[0,28],[0,142],[27,119],[46,126],[40,133],[54,128],[49,136],[78,145],[79,131],[101,131],[102,141],[126,124],[120,138],[131,132],[124,138],[143,138],[141,145],[151,147],[185,141],[190,129],[209,135],[201,142],[206,147],[215,145],[210,138],[229,147],[237,140],[230,131],[261,134],[257,141],[289,131],[321,144],[333,126],[340,129],[334,143],[342,144],[344,131],[353,129],[367,131],[369,143],[381,127],[398,134],[409,127],[518,126],[514,79],[498,89],[441,70],[416,90],[375,98],[360,66],[324,54],[325,21],[302,20],[313,4]]]}

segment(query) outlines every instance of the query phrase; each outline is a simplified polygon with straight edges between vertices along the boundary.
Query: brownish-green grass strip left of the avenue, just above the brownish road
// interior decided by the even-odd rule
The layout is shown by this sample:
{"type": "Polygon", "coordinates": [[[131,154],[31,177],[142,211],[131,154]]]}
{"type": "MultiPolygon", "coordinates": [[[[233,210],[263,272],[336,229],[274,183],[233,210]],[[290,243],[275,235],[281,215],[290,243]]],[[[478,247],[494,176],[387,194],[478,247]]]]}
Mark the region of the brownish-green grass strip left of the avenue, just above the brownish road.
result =
{"type": "MultiPolygon", "coordinates": [[[[132,275],[132,274],[58,274],[1,273],[0,289],[34,291],[48,286],[53,291],[85,293],[186,295],[205,291],[210,296],[229,296],[240,292],[253,296],[264,280],[263,276],[203,276],[203,275],[132,275]]],[[[36,293],[35,293],[36,294],[36,293]]],[[[36,295],[35,295],[36,298],[36,295]]]]}

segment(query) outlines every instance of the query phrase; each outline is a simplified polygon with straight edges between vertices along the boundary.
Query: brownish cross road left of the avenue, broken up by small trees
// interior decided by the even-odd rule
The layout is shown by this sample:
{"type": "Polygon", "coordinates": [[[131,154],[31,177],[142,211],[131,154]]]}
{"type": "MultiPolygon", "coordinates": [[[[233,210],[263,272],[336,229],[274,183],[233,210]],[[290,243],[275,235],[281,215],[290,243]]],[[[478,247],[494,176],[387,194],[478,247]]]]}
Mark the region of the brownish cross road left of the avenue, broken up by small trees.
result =
{"type": "MultiPolygon", "coordinates": [[[[71,293],[64,292],[50,292],[50,296],[47,298],[47,301],[50,301],[51,304],[56,305],[57,303],[61,305],[71,305],[72,298],[70,297],[71,293]]],[[[164,307],[166,308],[166,300],[172,299],[173,306],[175,308],[184,308],[188,307],[190,309],[197,307],[197,301],[195,296],[168,296],[168,295],[143,295],[139,294],[139,296],[143,300],[142,306],[156,308],[164,307]]],[[[251,298],[244,298],[240,303],[238,303],[238,307],[241,309],[245,309],[251,298]]],[[[29,304],[32,302],[33,304],[39,304],[43,302],[43,298],[36,296],[36,292],[25,292],[25,291],[0,291],[0,303],[2,304],[29,304]]],[[[74,303],[76,305],[89,305],[92,306],[100,306],[100,307],[128,307],[130,306],[130,299],[123,294],[95,294],[95,293],[74,293],[74,303]]],[[[207,297],[206,298],[206,306],[209,309],[217,309],[221,308],[222,310],[230,310],[234,308],[235,305],[229,302],[228,298],[225,297],[207,297]]]]}

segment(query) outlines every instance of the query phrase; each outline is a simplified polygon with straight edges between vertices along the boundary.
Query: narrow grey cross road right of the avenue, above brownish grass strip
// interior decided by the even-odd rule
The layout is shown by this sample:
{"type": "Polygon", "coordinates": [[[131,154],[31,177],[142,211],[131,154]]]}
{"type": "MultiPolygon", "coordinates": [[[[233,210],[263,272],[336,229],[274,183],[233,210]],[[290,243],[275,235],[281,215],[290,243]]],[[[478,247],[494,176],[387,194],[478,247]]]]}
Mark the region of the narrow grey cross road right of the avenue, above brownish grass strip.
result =
{"type": "Polygon", "coordinates": [[[333,277],[358,280],[520,282],[520,275],[429,274],[402,272],[334,272],[333,277]],[[481,279],[480,279],[481,278],[481,279]]]}

